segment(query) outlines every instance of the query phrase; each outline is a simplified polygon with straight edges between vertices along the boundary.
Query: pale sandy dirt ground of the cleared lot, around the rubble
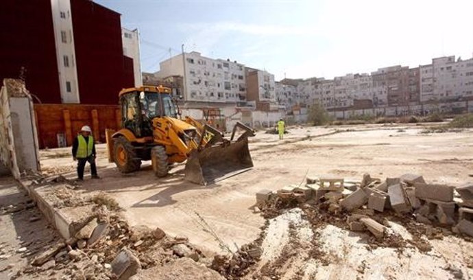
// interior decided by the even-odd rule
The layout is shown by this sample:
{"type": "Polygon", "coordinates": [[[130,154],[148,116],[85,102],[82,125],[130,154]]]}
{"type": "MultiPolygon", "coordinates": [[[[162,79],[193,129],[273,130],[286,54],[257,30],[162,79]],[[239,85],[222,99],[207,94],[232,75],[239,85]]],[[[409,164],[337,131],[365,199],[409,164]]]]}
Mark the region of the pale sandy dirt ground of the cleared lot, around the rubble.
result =
{"type": "MultiPolygon", "coordinates": [[[[143,164],[139,172],[122,175],[108,163],[105,145],[99,144],[98,166],[102,178],[86,177],[80,189],[84,194],[99,191],[110,194],[123,207],[123,214],[132,225],[159,226],[170,235],[189,237],[205,253],[224,253],[223,244],[216,237],[231,250],[237,250],[237,246],[260,235],[265,220],[252,210],[257,191],[276,191],[291,183],[301,183],[306,174],[361,180],[364,173],[383,179],[415,173],[422,174],[429,183],[460,185],[471,181],[473,131],[424,134],[422,130],[422,126],[415,125],[289,128],[290,133],[283,141],[278,140],[278,135],[259,132],[250,141],[254,168],[206,187],[185,182],[184,165],[176,165],[170,176],[161,179],[154,176],[149,163],[143,164]]],[[[75,177],[69,148],[42,151],[41,156],[44,172],[75,177]]],[[[284,228],[284,225],[276,226],[280,233],[265,246],[273,246],[274,250],[284,247],[287,238],[284,228]]],[[[464,279],[470,279],[472,273],[467,267],[473,252],[471,244],[456,237],[431,242],[435,250],[430,256],[412,249],[408,253],[414,257],[402,257],[392,248],[366,250],[363,236],[337,226],[304,231],[301,239],[310,239],[313,234],[324,240],[326,252],[342,255],[335,257],[339,261],[334,261],[333,266],[323,268],[317,261],[311,265],[310,258],[291,261],[293,268],[304,261],[304,270],[313,271],[305,274],[306,279],[314,275],[317,279],[453,278],[450,272],[445,272],[447,263],[464,271],[464,279]]],[[[264,254],[261,265],[269,257],[269,253],[264,254]]],[[[277,251],[274,255],[278,259],[277,251]]],[[[282,279],[295,276],[288,272],[282,279]]]]}

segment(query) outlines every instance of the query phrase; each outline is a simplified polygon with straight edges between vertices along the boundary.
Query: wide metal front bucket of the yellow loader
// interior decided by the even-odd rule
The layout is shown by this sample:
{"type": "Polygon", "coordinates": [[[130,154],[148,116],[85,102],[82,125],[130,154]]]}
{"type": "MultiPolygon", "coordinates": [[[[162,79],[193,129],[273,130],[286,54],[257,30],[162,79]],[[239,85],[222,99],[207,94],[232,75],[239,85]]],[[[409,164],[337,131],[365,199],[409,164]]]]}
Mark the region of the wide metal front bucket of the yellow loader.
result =
{"type": "Polygon", "coordinates": [[[248,139],[194,150],[187,159],[185,180],[200,185],[215,183],[253,167],[248,139]]]}

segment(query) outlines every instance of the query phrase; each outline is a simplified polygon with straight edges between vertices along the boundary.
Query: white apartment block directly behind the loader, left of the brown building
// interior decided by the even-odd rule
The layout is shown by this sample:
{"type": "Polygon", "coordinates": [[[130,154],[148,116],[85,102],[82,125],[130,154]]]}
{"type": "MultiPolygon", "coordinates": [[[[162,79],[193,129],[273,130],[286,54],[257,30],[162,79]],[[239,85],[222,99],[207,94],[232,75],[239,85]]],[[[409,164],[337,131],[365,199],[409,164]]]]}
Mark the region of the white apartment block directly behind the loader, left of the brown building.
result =
{"type": "MultiPolygon", "coordinates": [[[[245,66],[230,60],[212,59],[196,51],[160,62],[158,78],[184,77],[184,100],[236,103],[246,100],[245,66]]],[[[274,77],[274,76],[273,76],[274,77]]],[[[274,82],[274,78],[273,78],[274,82]]]]}

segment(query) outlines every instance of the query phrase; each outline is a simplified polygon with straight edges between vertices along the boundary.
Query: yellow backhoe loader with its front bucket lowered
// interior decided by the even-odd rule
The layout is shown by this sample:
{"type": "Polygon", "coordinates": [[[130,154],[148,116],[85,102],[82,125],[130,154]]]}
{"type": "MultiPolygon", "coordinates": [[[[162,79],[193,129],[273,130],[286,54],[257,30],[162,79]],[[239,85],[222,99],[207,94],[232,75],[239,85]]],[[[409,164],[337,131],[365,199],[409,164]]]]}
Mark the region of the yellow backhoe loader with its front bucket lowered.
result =
{"type": "Polygon", "coordinates": [[[134,172],[141,161],[151,160],[156,176],[163,177],[170,164],[186,161],[184,179],[207,185],[253,167],[247,138],[254,130],[244,124],[238,122],[225,139],[213,126],[187,116],[180,119],[165,86],[123,89],[119,100],[121,129],[107,130],[106,139],[108,159],[120,172],[134,172]]]}

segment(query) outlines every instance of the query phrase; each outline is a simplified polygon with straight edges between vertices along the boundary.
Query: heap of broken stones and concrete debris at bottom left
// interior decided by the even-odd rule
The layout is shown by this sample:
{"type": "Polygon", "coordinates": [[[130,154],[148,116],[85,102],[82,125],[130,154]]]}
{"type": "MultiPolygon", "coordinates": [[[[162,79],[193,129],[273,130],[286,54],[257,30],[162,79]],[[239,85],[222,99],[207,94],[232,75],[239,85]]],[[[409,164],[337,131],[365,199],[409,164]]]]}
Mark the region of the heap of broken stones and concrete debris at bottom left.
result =
{"type": "Polygon", "coordinates": [[[93,213],[77,221],[73,237],[45,248],[21,274],[53,277],[62,270],[64,280],[130,279],[155,266],[175,266],[180,258],[194,261],[194,269],[209,270],[202,264],[210,264],[210,259],[187,238],[169,237],[159,228],[130,227],[105,205],[97,205],[93,213]]]}

